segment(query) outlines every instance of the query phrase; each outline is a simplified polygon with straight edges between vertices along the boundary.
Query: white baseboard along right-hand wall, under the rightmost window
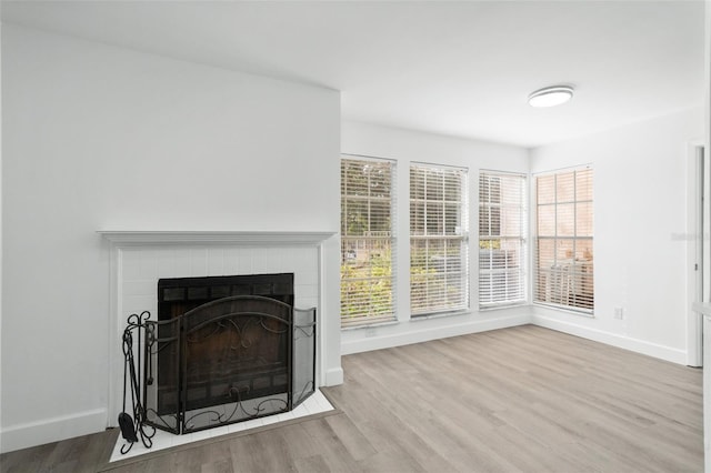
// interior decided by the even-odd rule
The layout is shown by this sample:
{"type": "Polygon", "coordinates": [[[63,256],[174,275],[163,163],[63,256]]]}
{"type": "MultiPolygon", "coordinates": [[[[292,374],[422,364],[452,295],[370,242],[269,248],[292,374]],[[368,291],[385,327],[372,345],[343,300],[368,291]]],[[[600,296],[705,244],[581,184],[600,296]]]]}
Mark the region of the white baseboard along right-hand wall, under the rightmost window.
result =
{"type": "Polygon", "coordinates": [[[558,332],[568,333],[570,335],[605,343],[608,345],[630,350],[637,353],[670,361],[672,363],[684,365],[687,364],[687,352],[684,350],[659,345],[657,343],[632,339],[630,336],[605,332],[602,330],[591,329],[588,326],[578,325],[571,322],[564,322],[554,318],[549,318],[535,313],[532,315],[532,323],[545,329],[551,329],[558,332]]]}

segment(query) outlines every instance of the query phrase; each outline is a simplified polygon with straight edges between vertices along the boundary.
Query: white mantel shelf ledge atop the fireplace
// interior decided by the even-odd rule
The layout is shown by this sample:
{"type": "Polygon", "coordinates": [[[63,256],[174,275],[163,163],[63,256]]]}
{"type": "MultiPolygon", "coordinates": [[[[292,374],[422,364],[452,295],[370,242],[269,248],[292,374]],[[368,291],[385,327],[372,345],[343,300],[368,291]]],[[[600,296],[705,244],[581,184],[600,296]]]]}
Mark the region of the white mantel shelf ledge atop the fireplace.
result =
{"type": "Polygon", "coordinates": [[[98,233],[118,245],[157,244],[320,244],[336,232],[304,231],[207,231],[207,230],[99,230],[98,233]]]}

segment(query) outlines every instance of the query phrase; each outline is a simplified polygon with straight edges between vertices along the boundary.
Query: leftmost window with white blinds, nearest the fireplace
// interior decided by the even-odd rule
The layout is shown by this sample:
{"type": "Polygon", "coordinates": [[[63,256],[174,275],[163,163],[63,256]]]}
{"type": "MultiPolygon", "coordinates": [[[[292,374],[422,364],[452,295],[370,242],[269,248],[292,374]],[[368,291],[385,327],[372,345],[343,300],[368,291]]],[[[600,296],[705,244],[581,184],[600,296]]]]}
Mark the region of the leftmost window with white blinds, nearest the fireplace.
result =
{"type": "Polygon", "coordinates": [[[341,326],[394,319],[393,169],[341,159],[341,326]]]}

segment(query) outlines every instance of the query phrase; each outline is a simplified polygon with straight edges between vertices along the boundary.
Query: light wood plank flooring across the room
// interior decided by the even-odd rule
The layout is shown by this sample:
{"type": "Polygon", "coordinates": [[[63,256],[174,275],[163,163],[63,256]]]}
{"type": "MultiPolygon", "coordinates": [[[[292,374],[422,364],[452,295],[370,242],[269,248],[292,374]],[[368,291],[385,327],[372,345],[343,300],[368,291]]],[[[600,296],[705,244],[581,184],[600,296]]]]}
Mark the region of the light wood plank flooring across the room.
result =
{"type": "Polygon", "coordinates": [[[118,431],[1,472],[702,472],[702,371],[525,325],[343,358],[337,407],[108,464],[118,431]]]}

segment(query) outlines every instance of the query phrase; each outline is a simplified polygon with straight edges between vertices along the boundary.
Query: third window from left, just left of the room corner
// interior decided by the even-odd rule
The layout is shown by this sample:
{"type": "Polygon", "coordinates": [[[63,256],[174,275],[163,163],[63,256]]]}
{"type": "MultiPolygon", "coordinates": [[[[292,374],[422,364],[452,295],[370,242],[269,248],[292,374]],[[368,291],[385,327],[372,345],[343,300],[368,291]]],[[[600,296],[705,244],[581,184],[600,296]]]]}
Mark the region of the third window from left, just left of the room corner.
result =
{"type": "Polygon", "coordinates": [[[525,177],[479,174],[479,308],[524,303],[525,177]]]}

